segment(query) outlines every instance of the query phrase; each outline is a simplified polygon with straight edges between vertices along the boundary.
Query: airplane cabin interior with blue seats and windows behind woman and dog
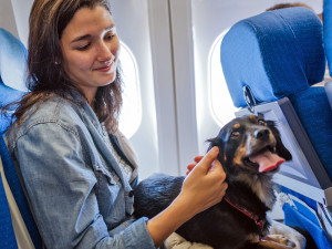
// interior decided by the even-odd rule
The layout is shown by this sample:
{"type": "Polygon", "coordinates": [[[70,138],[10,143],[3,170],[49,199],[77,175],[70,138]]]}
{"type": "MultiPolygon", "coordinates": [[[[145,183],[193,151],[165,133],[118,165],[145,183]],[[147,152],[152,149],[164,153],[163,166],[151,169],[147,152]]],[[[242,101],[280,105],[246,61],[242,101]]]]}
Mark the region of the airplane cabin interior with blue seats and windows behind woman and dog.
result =
{"type": "MultiPolygon", "coordinates": [[[[28,92],[32,2],[0,3],[1,106],[28,92]]],[[[262,116],[276,123],[292,154],[274,178],[281,199],[272,218],[332,249],[332,0],[270,11],[295,1],[111,2],[131,82],[120,127],[144,165],[139,178],[185,175],[229,120],[262,116]]],[[[11,114],[0,116],[0,248],[43,248],[3,141],[11,114]]]]}

